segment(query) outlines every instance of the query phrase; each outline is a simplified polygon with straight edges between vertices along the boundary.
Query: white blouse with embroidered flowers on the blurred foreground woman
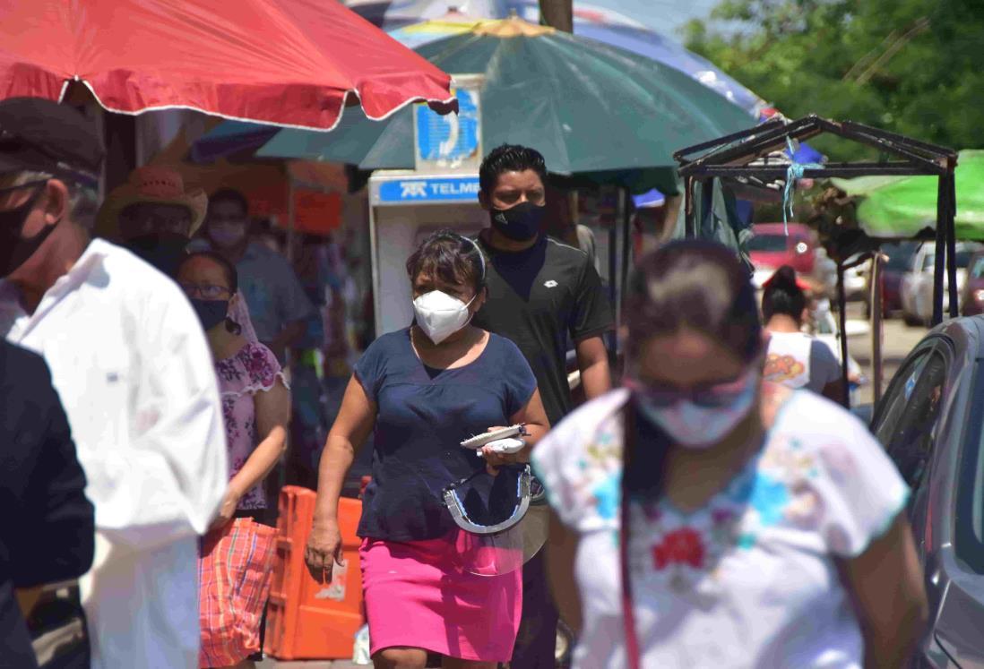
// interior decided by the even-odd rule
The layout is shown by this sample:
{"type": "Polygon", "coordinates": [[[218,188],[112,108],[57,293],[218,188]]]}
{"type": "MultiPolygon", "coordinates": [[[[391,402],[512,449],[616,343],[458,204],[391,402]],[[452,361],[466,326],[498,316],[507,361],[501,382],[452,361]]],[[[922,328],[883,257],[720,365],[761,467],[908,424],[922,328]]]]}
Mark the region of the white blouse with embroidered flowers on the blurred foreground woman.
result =
{"type": "MultiPolygon", "coordinates": [[[[619,561],[628,397],[585,404],[532,456],[551,506],[581,538],[582,669],[629,666],[619,561]]],[[[860,669],[861,632],[834,560],[864,552],[907,495],[860,421],[794,393],[763,450],[704,508],[684,513],[665,498],[630,506],[641,666],[860,669]]]]}

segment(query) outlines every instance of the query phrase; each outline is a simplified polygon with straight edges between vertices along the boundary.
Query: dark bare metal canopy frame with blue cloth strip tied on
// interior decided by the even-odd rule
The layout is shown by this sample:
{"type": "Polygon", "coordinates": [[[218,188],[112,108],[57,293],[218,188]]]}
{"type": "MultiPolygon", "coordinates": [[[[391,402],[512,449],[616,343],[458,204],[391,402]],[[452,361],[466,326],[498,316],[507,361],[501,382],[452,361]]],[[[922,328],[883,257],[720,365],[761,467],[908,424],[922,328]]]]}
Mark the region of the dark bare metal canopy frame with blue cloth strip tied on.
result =
{"type": "MultiPolygon", "coordinates": [[[[956,169],[956,152],[953,149],[920,142],[853,121],[832,121],[816,114],[804,116],[795,121],[774,118],[754,128],[687,147],[673,154],[674,159],[680,165],[679,173],[684,180],[686,235],[694,237],[697,231],[694,211],[694,185],[696,182],[713,178],[729,180],[741,178],[748,183],[765,186],[777,180],[785,180],[788,176],[788,163],[769,164],[769,154],[785,149],[789,140],[803,142],[825,133],[866,145],[892,157],[883,162],[829,162],[821,168],[806,166],[802,169],[801,176],[803,178],[850,178],[872,175],[936,176],[939,178],[936,267],[933,277],[933,325],[937,326],[943,322],[945,262],[949,281],[950,316],[956,318],[959,307],[956,290],[956,230],[953,222],[956,213],[956,188],[953,179],[953,172],[956,169]],[[756,164],[756,161],[760,162],[756,164]]],[[[844,333],[846,299],[843,273],[851,262],[851,260],[839,260],[837,263],[837,302],[840,311],[840,351],[845,395],[848,393],[848,368],[847,335],[844,333]]],[[[856,263],[857,259],[853,259],[853,262],[856,263]]],[[[881,316],[880,312],[876,315],[876,319],[879,321],[878,326],[881,325],[881,316]]],[[[877,336],[877,332],[875,335],[877,336]]],[[[848,403],[845,396],[845,404],[848,403]]]]}

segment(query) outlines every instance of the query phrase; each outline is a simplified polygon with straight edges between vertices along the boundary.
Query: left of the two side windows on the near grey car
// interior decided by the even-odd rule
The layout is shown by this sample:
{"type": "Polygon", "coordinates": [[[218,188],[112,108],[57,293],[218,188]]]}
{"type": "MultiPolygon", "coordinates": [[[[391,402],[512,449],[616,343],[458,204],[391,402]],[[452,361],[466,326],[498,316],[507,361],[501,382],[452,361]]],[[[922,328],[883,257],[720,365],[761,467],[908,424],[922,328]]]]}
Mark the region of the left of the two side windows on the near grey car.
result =
{"type": "Polygon", "coordinates": [[[933,349],[898,389],[906,398],[904,410],[891,422],[883,422],[885,431],[890,432],[883,443],[913,490],[922,480],[933,451],[946,381],[947,359],[939,349],[933,349]]]}

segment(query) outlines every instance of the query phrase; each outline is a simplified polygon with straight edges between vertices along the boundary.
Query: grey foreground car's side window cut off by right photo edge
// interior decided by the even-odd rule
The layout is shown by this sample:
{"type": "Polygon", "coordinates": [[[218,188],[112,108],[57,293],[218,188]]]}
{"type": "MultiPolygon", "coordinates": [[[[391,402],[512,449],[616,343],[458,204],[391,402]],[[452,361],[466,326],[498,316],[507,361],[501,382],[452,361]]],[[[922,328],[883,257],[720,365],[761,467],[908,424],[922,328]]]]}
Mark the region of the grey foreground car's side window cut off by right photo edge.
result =
{"type": "MultiPolygon", "coordinates": [[[[984,402],[984,365],[974,374],[973,406],[984,402]]],[[[970,411],[973,422],[966,431],[956,482],[956,557],[978,574],[984,574],[984,416],[970,411]]]]}

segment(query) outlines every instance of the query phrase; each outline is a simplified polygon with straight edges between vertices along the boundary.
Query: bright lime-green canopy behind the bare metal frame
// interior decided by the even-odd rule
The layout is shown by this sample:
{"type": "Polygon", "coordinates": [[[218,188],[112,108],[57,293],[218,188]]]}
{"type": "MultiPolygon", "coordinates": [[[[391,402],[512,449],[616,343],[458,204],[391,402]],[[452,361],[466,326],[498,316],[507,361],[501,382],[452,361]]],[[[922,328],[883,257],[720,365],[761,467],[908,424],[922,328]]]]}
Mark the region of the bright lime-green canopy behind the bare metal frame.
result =
{"type": "MultiPolygon", "coordinates": [[[[984,240],[984,151],[961,151],[956,160],[956,238],[984,240]]],[[[831,179],[860,199],[858,223],[872,237],[907,239],[936,229],[935,176],[831,179]]]]}

